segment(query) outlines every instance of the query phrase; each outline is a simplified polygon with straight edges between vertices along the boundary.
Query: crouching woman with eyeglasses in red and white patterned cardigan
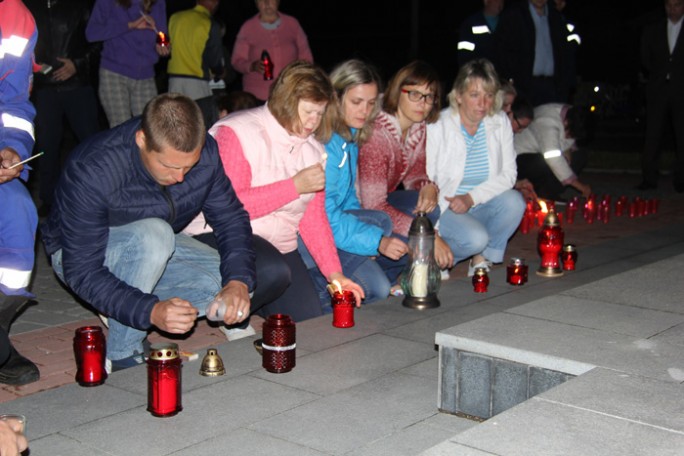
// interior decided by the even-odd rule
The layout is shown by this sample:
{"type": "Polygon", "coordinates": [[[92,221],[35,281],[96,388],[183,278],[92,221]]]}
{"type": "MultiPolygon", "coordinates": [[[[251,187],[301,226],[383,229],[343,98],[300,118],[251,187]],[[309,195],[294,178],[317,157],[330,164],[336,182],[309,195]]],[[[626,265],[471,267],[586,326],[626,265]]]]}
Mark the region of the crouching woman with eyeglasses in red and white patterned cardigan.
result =
{"type": "MultiPolygon", "coordinates": [[[[404,240],[416,213],[427,213],[433,224],[439,218],[439,188],[427,176],[425,139],[427,123],[439,116],[440,97],[434,68],[422,61],[404,66],[390,79],[373,133],[361,146],[361,205],[387,213],[404,240]]],[[[435,239],[435,259],[447,269],[453,254],[439,235],[435,239]]]]}

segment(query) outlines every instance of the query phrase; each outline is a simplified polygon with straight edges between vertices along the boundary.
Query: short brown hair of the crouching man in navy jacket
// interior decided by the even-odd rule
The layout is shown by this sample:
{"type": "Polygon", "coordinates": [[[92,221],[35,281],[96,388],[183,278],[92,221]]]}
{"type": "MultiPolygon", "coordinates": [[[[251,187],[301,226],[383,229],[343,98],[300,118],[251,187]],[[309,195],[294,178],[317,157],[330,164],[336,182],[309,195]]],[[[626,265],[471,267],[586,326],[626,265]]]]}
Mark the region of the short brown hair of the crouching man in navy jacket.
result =
{"type": "Polygon", "coordinates": [[[149,150],[160,152],[164,146],[170,146],[181,152],[194,152],[204,146],[202,110],[180,93],[152,98],[143,110],[141,128],[149,150]]]}

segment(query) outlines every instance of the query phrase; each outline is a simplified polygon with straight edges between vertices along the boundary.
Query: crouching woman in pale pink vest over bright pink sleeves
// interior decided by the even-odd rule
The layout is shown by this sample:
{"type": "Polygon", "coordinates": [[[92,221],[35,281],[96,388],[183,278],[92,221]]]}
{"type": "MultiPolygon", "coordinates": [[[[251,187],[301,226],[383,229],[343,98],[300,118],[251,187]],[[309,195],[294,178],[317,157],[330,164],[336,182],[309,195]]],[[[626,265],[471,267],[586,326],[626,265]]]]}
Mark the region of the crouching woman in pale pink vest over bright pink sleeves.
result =
{"type": "Polygon", "coordinates": [[[290,276],[282,295],[260,308],[253,306],[252,312],[261,316],[284,313],[301,321],[323,314],[297,251],[300,237],[328,282],[337,280],[343,289],[351,290],[357,306],[364,297],[363,289],[341,272],[325,212],[325,149],[319,141],[327,140],[332,132],[335,110],[327,108],[334,99],[323,70],[296,61],[278,76],[265,106],[236,112],[209,130],[250,216],[257,252],[256,292],[260,258],[269,258],[274,274],[284,270],[290,276]],[[280,254],[275,258],[273,248],[280,254]]]}

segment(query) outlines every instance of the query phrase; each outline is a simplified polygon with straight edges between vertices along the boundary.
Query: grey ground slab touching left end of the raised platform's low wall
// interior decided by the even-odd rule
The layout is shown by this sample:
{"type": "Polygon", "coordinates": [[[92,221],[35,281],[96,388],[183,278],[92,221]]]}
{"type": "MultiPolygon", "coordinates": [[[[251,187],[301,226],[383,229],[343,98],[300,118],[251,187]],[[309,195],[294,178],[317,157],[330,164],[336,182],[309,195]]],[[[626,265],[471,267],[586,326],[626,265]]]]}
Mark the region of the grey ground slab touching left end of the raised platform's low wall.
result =
{"type": "Polygon", "coordinates": [[[434,382],[395,373],[250,428],[330,454],[346,454],[432,416],[436,411],[435,391],[434,382]]]}

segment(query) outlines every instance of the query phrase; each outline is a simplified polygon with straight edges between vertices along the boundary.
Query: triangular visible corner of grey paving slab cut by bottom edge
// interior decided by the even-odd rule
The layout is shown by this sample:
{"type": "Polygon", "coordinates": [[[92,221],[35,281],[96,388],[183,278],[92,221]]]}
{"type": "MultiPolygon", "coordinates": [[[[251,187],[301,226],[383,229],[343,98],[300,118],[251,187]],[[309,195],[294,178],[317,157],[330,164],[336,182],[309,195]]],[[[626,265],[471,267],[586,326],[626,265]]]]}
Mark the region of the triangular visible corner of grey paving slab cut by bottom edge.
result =
{"type": "Polygon", "coordinates": [[[238,454],[278,455],[278,456],[323,456],[322,453],[311,448],[305,448],[277,439],[262,432],[249,429],[237,429],[223,435],[205,440],[180,451],[171,453],[173,456],[197,456],[201,454],[238,454]],[[245,449],[249,448],[248,452],[245,449]]]}

